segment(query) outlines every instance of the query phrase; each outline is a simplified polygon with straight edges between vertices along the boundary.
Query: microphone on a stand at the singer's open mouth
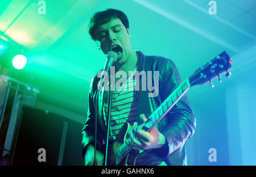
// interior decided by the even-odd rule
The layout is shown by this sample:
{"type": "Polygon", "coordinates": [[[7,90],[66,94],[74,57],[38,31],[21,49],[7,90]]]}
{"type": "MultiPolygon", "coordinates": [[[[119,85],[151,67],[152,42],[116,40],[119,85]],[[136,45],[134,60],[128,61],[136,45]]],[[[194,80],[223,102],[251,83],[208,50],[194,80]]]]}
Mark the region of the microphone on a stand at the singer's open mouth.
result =
{"type": "MultiPolygon", "coordinates": [[[[106,54],[106,63],[105,63],[105,66],[104,66],[104,69],[102,71],[102,74],[101,74],[101,79],[100,79],[100,82],[98,84],[98,88],[102,88],[102,83],[104,81],[104,77],[105,77],[105,72],[108,73],[109,72],[109,69],[110,69],[110,66],[113,65],[113,63],[115,61],[117,61],[117,53],[113,52],[113,51],[110,51],[109,53],[106,54]]],[[[101,90],[101,89],[99,89],[101,90]]]]}

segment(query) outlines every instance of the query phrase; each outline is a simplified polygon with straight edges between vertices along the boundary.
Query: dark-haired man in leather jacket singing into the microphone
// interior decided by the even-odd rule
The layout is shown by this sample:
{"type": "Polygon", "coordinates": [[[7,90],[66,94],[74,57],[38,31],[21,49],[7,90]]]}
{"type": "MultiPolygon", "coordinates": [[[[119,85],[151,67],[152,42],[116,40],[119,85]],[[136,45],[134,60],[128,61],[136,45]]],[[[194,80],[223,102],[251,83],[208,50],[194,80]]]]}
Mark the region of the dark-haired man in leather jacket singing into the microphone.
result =
{"type": "MultiPolygon", "coordinates": [[[[150,132],[145,131],[142,126],[151,113],[180,85],[179,72],[174,62],[166,57],[146,56],[141,51],[133,50],[129,21],[122,11],[106,9],[96,12],[90,19],[88,29],[98,49],[105,54],[110,51],[117,53],[117,61],[113,66],[116,72],[126,73],[126,83],[129,83],[119,86],[112,93],[110,146],[122,126],[129,123],[133,128],[129,130],[130,140],[126,143],[133,149],[140,150],[131,165],[187,165],[185,141],[192,136],[196,127],[196,119],[187,96],[184,95],[150,132]],[[136,71],[158,71],[158,77],[152,77],[150,81],[152,85],[158,86],[155,87],[158,95],[148,96],[148,89],[135,89],[139,83],[134,79],[136,71]]],[[[100,78],[97,75],[98,73],[90,85],[88,114],[82,129],[85,165],[104,165],[109,91],[98,89],[100,78]]]]}

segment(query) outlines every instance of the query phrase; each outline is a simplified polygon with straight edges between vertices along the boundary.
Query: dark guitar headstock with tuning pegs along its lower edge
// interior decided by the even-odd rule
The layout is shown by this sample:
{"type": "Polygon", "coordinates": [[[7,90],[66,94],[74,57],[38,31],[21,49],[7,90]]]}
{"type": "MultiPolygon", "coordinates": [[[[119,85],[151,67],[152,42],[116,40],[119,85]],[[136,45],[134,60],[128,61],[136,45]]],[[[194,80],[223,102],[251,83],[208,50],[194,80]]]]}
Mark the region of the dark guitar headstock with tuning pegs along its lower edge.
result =
{"type": "Polygon", "coordinates": [[[189,77],[189,83],[191,86],[204,85],[209,82],[213,87],[212,79],[218,77],[221,82],[221,73],[226,71],[226,77],[230,77],[231,73],[228,71],[232,68],[232,58],[224,51],[207,64],[201,66],[195,71],[191,77],[189,77]]]}

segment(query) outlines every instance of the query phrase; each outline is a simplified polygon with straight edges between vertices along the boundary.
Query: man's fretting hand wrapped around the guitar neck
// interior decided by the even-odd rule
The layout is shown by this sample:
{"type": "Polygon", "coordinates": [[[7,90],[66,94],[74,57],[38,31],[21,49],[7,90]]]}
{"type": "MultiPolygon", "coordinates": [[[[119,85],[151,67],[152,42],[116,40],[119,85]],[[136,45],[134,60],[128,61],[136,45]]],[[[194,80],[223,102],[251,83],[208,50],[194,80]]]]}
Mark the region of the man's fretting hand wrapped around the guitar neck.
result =
{"type": "MultiPolygon", "coordinates": [[[[140,115],[140,118],[143,122],[147,121],[144,114],[140,115]]],[[[129,137],[131,141],[128,141],[130,147],[137,150],[157,149],[166,143],[166,138],[155,127],[150,132],[146,132],[142,128],[142,124],[138,126],[138,123],[135,122],[133,128],[130,129],[129,137]]]]}

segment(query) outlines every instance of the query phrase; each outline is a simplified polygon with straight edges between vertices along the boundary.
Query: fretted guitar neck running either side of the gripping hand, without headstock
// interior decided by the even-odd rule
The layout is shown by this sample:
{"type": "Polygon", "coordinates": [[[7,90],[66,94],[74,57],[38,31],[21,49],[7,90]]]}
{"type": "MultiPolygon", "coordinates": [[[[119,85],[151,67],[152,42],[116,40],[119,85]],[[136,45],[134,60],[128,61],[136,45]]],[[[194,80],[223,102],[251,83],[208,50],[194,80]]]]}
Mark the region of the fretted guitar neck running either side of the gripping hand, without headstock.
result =
{"type": "MultiPolygon", "coordinates": [[[[168,111],[179,101],[179,99],[188,91],[190,88],[189,80],[186,79],[181,83],[171,95],[168,96],[166,100],[148,117],[147,121],[143,123],[143,129],[146,132],[150,132],[152,128],[166,115],[168,111]]],[[[130,139],[129,139],[130,140],[130,139]]],[[[117,163],[121,162],[122,158],[125,157],[127,153],[129,153],[131,147],[127,144],[123,144],[119,147],[117,152],[115,153],[115,159],[117,163]]]]}

